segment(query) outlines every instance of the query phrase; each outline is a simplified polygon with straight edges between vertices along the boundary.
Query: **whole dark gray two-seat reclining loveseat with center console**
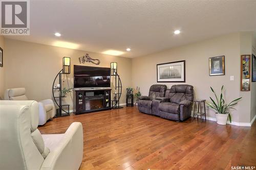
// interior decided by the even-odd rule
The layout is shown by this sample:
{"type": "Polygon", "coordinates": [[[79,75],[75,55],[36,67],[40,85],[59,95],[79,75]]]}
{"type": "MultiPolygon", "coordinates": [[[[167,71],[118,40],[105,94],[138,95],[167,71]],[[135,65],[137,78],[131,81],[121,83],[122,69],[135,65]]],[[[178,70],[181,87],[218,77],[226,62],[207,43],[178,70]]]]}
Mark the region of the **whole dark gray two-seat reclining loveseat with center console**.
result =
{"type": "Polygon", "coordinates": [[[179,122],[190,117],[193,100],[191,85],[173,85],[167,90],[165,85],[152,85],[149,96],[141,96],[138,106],[142,113],[179,122]]]}

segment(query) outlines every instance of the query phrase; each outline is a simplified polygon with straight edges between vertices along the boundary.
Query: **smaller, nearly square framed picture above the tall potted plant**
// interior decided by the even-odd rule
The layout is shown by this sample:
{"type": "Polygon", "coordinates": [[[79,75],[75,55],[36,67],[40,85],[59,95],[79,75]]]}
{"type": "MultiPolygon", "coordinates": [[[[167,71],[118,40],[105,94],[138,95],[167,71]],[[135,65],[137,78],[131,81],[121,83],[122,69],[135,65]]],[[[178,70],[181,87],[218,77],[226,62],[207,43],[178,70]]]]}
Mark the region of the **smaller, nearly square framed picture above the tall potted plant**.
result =
{"type": "Polygon", "coordinates": [[[225,75],[225,56],[209,58],[209,76],[225,75]]]}

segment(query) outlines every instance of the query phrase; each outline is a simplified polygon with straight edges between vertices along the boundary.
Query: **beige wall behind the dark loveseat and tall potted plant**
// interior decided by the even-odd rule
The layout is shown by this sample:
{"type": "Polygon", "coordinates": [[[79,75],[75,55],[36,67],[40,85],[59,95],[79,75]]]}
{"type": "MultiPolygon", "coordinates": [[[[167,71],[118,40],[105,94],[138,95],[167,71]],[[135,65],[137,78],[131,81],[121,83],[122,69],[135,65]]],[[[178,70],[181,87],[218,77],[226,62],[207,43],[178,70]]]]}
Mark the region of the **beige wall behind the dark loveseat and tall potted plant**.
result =
{"type": "MultiPolygon", "coordinates": [[[[237,110],[232,110],[234,122],[250,122],[250,92],[240,92],[240,40],[243,35],[233,33],[209,40],[172,48],[159,53],[134,58],[132,60],[133,86],[139,86],[143,95],[148,95],[152,84],[166,84],[168,88],[174,84],[190,84],[195,88],[196,99],[209,100],[212,96],[210,86],[218,93],[225,86],[225,99],[231,101],[243,96],[237,110]],[[209,57],[225,56],[225,76],[209,76],[209,57]],[[157,83],[156,64],[186,61],[185,83],[157,83]],[[230,81],[234,76],[234,81],[230,81]]],[[[251,47],[251,46],[250,46],[251,47]]],[[[207,116],[215,117],[214,112],[207,109],[207,116]]]]}

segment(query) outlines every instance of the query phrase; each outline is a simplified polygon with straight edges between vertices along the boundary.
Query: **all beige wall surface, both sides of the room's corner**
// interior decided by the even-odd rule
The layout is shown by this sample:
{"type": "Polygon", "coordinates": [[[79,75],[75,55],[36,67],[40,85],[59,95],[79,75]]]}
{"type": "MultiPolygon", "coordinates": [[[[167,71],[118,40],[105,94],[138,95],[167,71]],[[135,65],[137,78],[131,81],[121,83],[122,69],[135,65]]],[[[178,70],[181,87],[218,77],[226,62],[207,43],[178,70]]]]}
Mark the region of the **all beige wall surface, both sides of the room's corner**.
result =
{"type": "MultiPolygon", "coordinates": [[[[3,38],[0,37],[1,42],[3,38]]],[[[236,106],[237,110],[231,112],[232,120],[249,123],[256,113],[256,83],[251,83],[251,91],[240,91],[240,55],[251,54],[255,49],[252,46],[256,46],[255,34],[253,37],[252,33],[242,32],[129,59],[5,39],[5,66],[7,66],[5,72],[0,68],[0,78],[1,74],[5,75],[5,89],[26,87],[29,99],[37,101],[49,99],[52,97],[51,88],[54,77],[62,68],[62,57],[71,57],[72,67],[68,80],[70,86],[73,87],[73,65],[79,64],[78,58],[89,53],[92,58],[100,59],[99,66],[102,67],[110,67],[110,62],[113,61],[118,62],[124,89],[127,86],[139,86],[143,95],[148,94],[148,89],[152,84],[166,84],[168,88],[174,84],[191,84],[195,88],[197,99],[209,100],[209,96],[212,96],[209,86],[219,92],[221,85],[224,85],[224,95],[227,101],[243,97],[236,106]],[[209,76],[209,57],[221,55],[225,56],[225,75],[209,76]],[[157,83],[156,64],[179,60],[186,60],[186,83],[157,83]],[[234,81],[230,81],[230,76],[234,76],[234,81]]],[[[84,65],[95,66],[92,63],[84,65]]],[[[63,84],[67,87],[66,79],[63,84]]],[[[0,92],[2,93],[0,96],[3,96],[3,90],[0,92]]],[[[65,102],[72,105],[72,98],[69,96],[65,102]]],[[[124,95],[121,103],[125,103],[124,95]]],[[[208,108],[207,116],[215,117],[214,112],[208,108]]]]}

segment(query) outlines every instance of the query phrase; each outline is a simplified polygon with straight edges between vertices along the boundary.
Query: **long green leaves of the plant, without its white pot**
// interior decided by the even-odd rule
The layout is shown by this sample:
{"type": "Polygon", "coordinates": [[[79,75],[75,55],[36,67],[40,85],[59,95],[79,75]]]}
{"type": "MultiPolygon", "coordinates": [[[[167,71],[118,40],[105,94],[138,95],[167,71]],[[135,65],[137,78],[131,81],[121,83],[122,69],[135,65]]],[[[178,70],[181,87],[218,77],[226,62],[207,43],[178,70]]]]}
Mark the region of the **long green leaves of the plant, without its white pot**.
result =
{"type": "Polygon", "coordinates": [[[228,118],[229,118],[229,121],[231,123],[231,115],[229,114],[229,109],[235,109],[233,108],[234,105],[238,104],[238,101],[242,98],[238,98],[238,99],[235,99],[233,100],[232,102],[230,103],[225,103],[225,100],[223,99],[223,87],[224,85],[222,85],[221,87],[221,95],[220,95],[220,98],[217,97],[214,89],[212,87],[210,87],[211,91],[214,93],[215,95],[215,98],[216,98],[216,101],[213,100],[211,97],[210,97],[210,100],[212,102],[212,104],[210,103],[206,103],[210,108],[214,109],[217,113],[219,114],[228,114],[228,118]]]}

